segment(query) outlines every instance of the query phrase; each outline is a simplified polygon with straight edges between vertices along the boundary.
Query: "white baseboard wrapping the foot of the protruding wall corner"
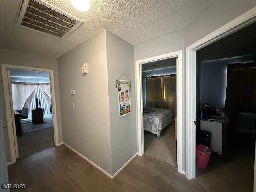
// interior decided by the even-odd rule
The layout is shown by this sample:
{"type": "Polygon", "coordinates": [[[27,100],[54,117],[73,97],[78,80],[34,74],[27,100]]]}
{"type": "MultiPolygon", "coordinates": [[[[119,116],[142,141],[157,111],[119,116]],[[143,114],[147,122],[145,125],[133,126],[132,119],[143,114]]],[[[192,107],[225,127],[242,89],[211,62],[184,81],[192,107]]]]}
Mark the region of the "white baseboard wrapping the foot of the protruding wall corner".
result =
{"type": "Polygon", "coordinates": [[[94,168],[96,168],[97,170],[99,170],[100,172],[102,172],[105,176],[107,176],[108,178],[110,178],[111,180],[113,180],[130,162],[132,162],[132,160],[138,155],[138,153],[136,153],[134,156],[132,156],[132,158],[130,158],[130,160],[128,160],[128,162],[126,162],[126,164],[124,164],[113,176],[111,176],[110,174],[108,174],[106,171],[104,171],[102,168],[100,168],[99,166],[97,166],[96,164],[94,164],[92,161],[90,161],[88,158],[86,158],[85,156],[83,156],[82,154],[80,154],[79,152],[77,152],[76,150],[74,150],[72,147],[68,146],[66,143],[62,142],[62,144],[64,146],[66,146],[67,148],[69,148],[70,150],[72,150],[72,152],[76,153],[78,156],[80,156],[81,158],[83,158],[84,160],[86,160],[89,164],[91,164],[94,168]]]}

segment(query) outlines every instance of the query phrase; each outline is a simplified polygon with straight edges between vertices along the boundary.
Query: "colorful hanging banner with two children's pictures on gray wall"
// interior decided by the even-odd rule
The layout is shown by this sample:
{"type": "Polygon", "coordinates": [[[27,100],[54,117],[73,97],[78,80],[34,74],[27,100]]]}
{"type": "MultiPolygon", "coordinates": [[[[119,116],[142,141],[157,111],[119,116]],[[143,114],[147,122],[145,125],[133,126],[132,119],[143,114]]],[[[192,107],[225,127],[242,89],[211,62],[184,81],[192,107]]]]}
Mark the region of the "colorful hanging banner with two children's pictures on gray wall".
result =
{"type": "Polygon", "coordinates": [[[118,81],[116,82],[120,117],[129,114],[131,111],[131,95],[130,95],[130,81],[118,81]]]}

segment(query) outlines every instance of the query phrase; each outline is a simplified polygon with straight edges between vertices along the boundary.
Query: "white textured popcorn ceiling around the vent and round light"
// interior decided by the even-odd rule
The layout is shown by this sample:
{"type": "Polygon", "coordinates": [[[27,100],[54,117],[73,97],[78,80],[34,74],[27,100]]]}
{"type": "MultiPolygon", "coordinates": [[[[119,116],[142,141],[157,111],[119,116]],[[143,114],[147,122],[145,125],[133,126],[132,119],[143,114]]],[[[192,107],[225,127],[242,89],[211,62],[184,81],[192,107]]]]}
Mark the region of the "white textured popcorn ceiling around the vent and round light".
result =
{"type": "Polygon", "coordinates": [[[20,1],[0,0],[1,48],[58,58],[105,29],[137,45],[184,28],[213,2],[91,0],[90,10],[79,12],[69,0],[45,1],[84,23],[60,39],[16,25],[20,1]]]}

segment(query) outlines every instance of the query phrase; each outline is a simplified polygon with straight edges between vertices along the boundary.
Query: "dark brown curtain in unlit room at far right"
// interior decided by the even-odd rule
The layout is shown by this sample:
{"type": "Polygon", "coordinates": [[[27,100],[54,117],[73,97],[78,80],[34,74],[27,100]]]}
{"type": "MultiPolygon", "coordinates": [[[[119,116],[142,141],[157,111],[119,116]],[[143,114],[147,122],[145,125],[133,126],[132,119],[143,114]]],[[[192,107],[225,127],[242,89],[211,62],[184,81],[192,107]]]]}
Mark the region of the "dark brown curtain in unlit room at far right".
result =
{"type": "Polygon", "coordinates": [[[240,112],[256,112],[256,62],[228,65],[225,110],[232,123],[240,112]]]}

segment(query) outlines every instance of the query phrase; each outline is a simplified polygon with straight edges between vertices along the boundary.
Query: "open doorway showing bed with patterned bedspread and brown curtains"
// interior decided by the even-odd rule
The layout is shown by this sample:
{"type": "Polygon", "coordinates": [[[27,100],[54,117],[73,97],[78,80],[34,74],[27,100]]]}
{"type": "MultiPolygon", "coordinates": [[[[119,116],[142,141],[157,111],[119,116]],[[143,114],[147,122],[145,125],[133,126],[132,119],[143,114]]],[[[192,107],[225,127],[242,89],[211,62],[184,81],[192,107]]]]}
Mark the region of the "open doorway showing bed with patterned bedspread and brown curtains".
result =
{"type": "Polygon", "coordinates": [[[144,124],[144,154],[177,168],[176,60],[177,58],[169,58],[142,64],[142,90],[143,118],[144,121],[150,121],[149,124],[144,124]],[[151,86],[154,86],[152,91],[150,91],[151,86]],[[152,97],[155,98],[154,101],[152,97]],[[162,115],[158,110],[162,111],[162,115]],[[169,110],[170,113],[165,113],[169,110]],[[154,124],[152,120],[156,116],[159,117],[159,122],[154,124]],[[154,132],[155,128],[159,128],[159,137],[151,131],[153,129],[154,132]]]}

